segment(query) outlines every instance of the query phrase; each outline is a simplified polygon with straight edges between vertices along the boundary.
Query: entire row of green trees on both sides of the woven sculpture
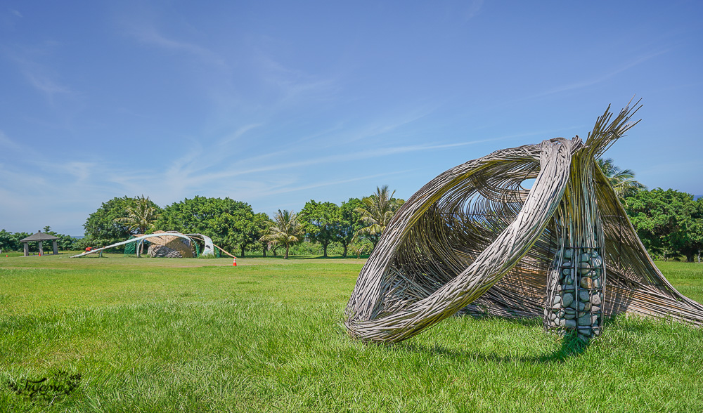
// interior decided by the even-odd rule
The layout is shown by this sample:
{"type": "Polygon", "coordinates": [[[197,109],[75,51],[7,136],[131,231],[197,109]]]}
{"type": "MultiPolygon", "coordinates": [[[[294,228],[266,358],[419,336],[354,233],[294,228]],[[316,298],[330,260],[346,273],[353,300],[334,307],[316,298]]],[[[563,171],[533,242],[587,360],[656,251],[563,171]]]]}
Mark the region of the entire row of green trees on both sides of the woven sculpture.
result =
{"type": "MultiPolygon", "coordinates": [[[[678,190],[647,188],[635,180],[629,169],[621,169],[612,159],[598,159],[600,169],[610,181],[623,204],[640,240],[653,258],[685,256],[699,261],[703,250],[703,198],[678,190]]],[[[278,249],[288,258],[290,250],[300,244],[318,244],[323,256],[335,245],[343,257],[360,256],[380,240],[393,214],[404,203],[396,199],[387,186],[376,188],[368,197],[349,198],[337,205],[311,199],[295,211],[278,210],[273,216],[256,213],[250,204],[228,197],[196,196],[164,208],[148,197],[115,197],[104,202],[84,223],[81,240],[49,232],[60,238],[60,249],[104,247],[129,239],[131,235],[155,230],[202,233],[229,251],[245,256],[247,251],[261,251],[263,256],[277,255],[278,249]]],[[[30,234],[0,231],[0,249],[20,251],[19,243],[30,234]]],[[[30,251],[37,246],[30,244],[30,251]]],[[[300,247],[299,249],[303,249],[300,247]]],[[[307,249],[309,251],[309,249],[307,249]]]]}

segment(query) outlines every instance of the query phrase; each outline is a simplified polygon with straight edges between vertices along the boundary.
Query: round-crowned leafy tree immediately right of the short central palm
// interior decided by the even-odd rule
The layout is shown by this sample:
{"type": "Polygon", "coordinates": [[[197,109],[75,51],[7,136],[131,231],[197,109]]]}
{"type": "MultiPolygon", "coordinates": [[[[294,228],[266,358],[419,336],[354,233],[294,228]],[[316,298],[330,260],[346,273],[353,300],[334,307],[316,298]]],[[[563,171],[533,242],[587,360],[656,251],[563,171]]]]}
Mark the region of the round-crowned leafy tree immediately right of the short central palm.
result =
{"type": "Polygon", "coordinates": [[[340,207],[332,202],[310,200],[300,210],[300,223],[307,239],[322,245],[327,258],[327,247],[339,239],[337,226],[340,223],[340,207]]]}

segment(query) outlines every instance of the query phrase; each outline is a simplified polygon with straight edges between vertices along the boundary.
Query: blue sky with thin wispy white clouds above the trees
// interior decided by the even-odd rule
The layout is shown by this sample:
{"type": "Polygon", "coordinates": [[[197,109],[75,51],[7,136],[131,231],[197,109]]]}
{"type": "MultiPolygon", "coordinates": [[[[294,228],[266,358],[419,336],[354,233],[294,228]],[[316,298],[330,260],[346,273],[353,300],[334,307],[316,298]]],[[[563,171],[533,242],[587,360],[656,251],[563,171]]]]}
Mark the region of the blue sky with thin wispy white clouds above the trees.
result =
{"type": "Polygon", "coordinates": [[[3,1],[0,228],[102,202],[407,199],[643,98],[607,156],[703,194],[699,1],[3,1]]]}

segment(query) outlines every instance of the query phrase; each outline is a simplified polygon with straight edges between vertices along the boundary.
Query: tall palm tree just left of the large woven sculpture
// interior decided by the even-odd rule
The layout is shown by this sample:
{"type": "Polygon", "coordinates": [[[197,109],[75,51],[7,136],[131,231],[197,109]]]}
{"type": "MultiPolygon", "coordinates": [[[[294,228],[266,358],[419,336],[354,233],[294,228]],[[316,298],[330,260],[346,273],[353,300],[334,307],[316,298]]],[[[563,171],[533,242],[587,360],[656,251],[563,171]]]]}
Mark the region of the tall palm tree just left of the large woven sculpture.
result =
{"type": "Polygon", "coordinates": [[[352,242],[361,235],[366,235],[373,242],[373,247],[376,247],[382,232],[393,218],[393,214],[405,202],[403,199],[393,197],[395,191],[391,192],[390,195],[388,192],[388,185],[383,185],[381,188],[377,186],[375,194],[361,199],[366,208],[357,208],[356,211],[361,214],[361,221],[366,224],[366,227],[356,231],[352,242]]]}

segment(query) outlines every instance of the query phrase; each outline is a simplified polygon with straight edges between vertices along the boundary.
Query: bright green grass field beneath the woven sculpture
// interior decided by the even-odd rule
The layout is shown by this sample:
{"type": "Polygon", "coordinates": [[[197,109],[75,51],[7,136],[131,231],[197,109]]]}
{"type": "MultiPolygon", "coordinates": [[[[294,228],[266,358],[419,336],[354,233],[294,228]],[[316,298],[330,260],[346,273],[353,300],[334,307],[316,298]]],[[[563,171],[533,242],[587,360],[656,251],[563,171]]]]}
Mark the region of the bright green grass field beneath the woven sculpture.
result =
{"type": "MultiPolygon", "coordinates": [[[[4,254],[3,254],[4,255],[4,254]]],[[[453,317],[392,346],[341,326],[363,261],[0,258],[10,412],[702,412],[703,330],[618,317],[589,346],[453,317]],[[9,384],[81,374],[56,398],[9,384]]],[[[703,301],[703,265],[658,263],[703,301]]]]}

